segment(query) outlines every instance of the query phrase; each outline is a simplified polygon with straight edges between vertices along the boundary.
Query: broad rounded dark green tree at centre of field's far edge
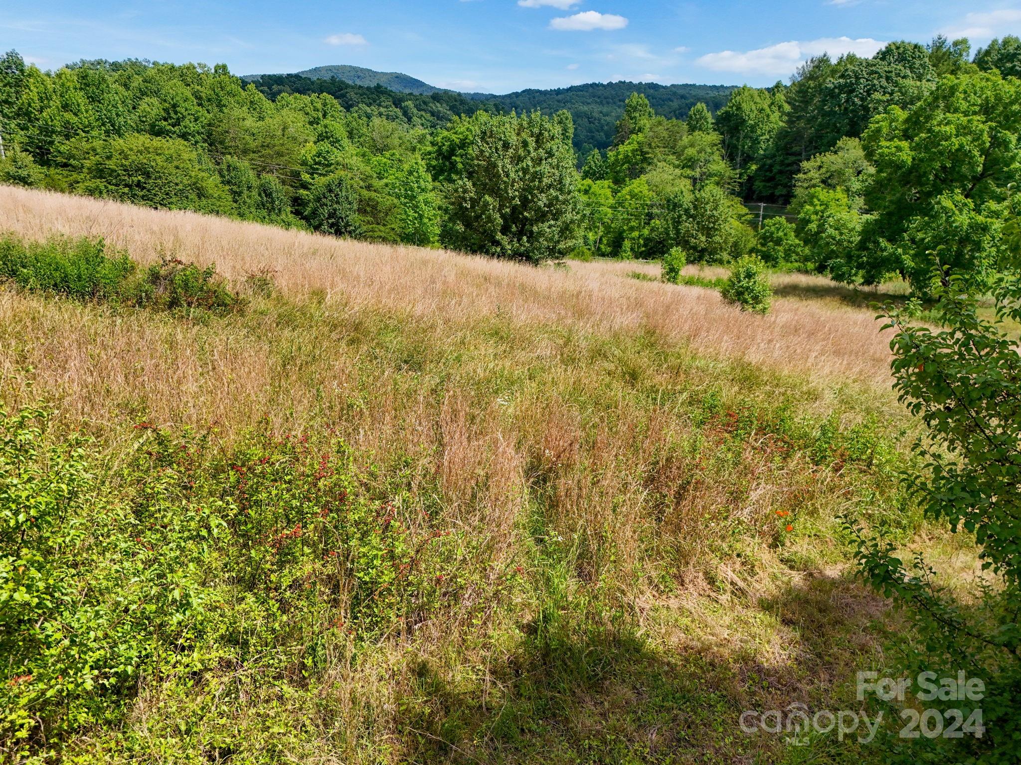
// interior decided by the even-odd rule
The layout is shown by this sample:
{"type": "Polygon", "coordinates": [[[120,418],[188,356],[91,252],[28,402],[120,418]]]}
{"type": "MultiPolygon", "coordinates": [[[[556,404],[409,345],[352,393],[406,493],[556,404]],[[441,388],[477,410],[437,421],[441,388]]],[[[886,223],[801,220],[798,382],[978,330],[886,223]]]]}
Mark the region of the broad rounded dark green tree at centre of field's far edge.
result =
{"type": "Polygon", "coordinates": [[[464,174],[449,191],[449,244],[531,263],[574,249],[578,174],[561,125],[538,112],[479,120],[460,161],[464,174]]]}

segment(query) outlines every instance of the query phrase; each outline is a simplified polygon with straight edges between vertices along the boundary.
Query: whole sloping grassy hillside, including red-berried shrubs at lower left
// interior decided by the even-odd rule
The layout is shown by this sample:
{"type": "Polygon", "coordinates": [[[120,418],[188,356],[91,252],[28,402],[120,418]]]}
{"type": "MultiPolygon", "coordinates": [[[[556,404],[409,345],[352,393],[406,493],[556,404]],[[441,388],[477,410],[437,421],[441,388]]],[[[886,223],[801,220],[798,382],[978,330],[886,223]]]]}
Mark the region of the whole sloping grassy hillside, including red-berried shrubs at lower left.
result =
{"type": "Polygon", "coordinates": [[[72,487],[60,571],[91,619],[37,635],[49,669],[10,684],[32,714],[8,754],[882,761],[738,727],[844,708],[883,666],[894,617],[854,581],[838,516],[906,544],[920,521],[868,310],[792,293],[749,316],[627,264],[9,187],[4,231],[215,264],[243,306],[0,293],[5,406],[52,409],[0,441],[72,487]]]}

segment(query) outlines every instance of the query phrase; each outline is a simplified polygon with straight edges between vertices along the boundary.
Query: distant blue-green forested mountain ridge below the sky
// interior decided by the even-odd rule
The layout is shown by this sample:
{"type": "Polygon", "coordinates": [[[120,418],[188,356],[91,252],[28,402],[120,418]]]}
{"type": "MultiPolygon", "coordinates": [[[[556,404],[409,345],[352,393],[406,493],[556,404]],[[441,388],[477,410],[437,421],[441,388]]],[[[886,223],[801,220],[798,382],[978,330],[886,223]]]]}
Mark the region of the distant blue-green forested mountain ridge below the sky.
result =
{"type": "MultiPolygon", "coordinates": [[[[655,109],[657,114],[683,119],[688,115],[691,107],[699,101],[703,102],[710,111],[716,114],[726,105],[731,91],[734,90],[734,87],[730,85],[657,85],[655,83],[621,81],[618,83],[589,83],[588,85],[575,85],[570,88],[553,90],[530,88],[497,96],[491,93],[454,93],[436,88],[399,71],[376,71],[361,66],[342,64],[317,66],[287,75],[248,74],[242,80],[260,82],[262,86],[260,90],[264,90],[266,95],[271,97],[276,97],[282,90],[308,92],[307,89],[300,87],[294,78],[315,81],[330,81],[336,78],[343,83],[350,83],[362,88],[382,86],[395,93],[444,96],[444,100],[450,100],[450,103],[445,104],[445,108],[454,114],[473,110],[471,105],[466,103],[467,101],[486,102],[485,107],[480,104],[480,108],[492,108],[492,105],[495,104],[507,111],[515,109],[519,113],[540,109],[544,113],[551,114],[561,109],[567,109],[574,117],[575,149],[583,154],[587,154],[593,148],[606,149],[610,146],[614,140],[614,129],[617,120],[624,113],[624,102],[632,93],[643,93],[652,108],[655,109]],[[456,98],[451,100],[450,97],[454,96],[456,98]],[[466,106],[469,108],[466,109],[466,106]]],[[[312,90],[328,92],[331,89],[320,87],[312,90]]],[[[362,94],[358,98],[363,99],[364,95],[362,94]]],[[[400,100],[394,99],[394,105],[399,104],[400,100]]]]}

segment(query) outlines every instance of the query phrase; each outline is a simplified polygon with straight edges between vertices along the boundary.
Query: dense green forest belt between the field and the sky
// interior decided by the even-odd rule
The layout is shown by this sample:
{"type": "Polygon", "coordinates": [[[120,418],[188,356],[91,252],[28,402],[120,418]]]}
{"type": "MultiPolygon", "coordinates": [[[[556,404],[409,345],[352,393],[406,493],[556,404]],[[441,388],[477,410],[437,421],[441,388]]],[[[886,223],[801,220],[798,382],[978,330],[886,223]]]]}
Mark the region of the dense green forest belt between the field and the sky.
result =
{"type": "Polygon", "coordinates": [[[711,89],[708,102],[690,103],[704,88],[617,83],[497,105],[337,79],[245,84],[223,65],[43,72],[11,52],[2,177],[531,262],[756,254],[924,294],[936,263],[984,285],[1007,257],[1021,88],[1003,71],[1018,55],[1011,37],[973,58],[966,40],[937,38],[820,56],[789,85],[711,89]],[[572,151],[618,109],[607,151],[572,151]],[[789,202],[787,215],[758,231],[749,198],[789,202]]]}

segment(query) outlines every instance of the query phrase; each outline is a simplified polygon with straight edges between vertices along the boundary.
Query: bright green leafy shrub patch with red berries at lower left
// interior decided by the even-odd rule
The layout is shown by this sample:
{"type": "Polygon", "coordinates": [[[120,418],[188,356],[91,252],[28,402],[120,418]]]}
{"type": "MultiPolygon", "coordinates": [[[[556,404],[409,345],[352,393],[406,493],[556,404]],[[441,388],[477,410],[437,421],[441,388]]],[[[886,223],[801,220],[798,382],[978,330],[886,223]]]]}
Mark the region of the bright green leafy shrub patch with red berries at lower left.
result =
{"type": "Polygon", "coordinates": [[[58,760],[56,743],[116,725],[146,683],[222,682],[230,705],[245,667],[305,688],[328,654],[421,622],[449,586],[448,532],[367,489],[336,439],[266,430],[224,453],[142,422],[100,481],[90,442],[48,439],[48,416],[0,406],[0,749],[13,761],[58,760]]]}

